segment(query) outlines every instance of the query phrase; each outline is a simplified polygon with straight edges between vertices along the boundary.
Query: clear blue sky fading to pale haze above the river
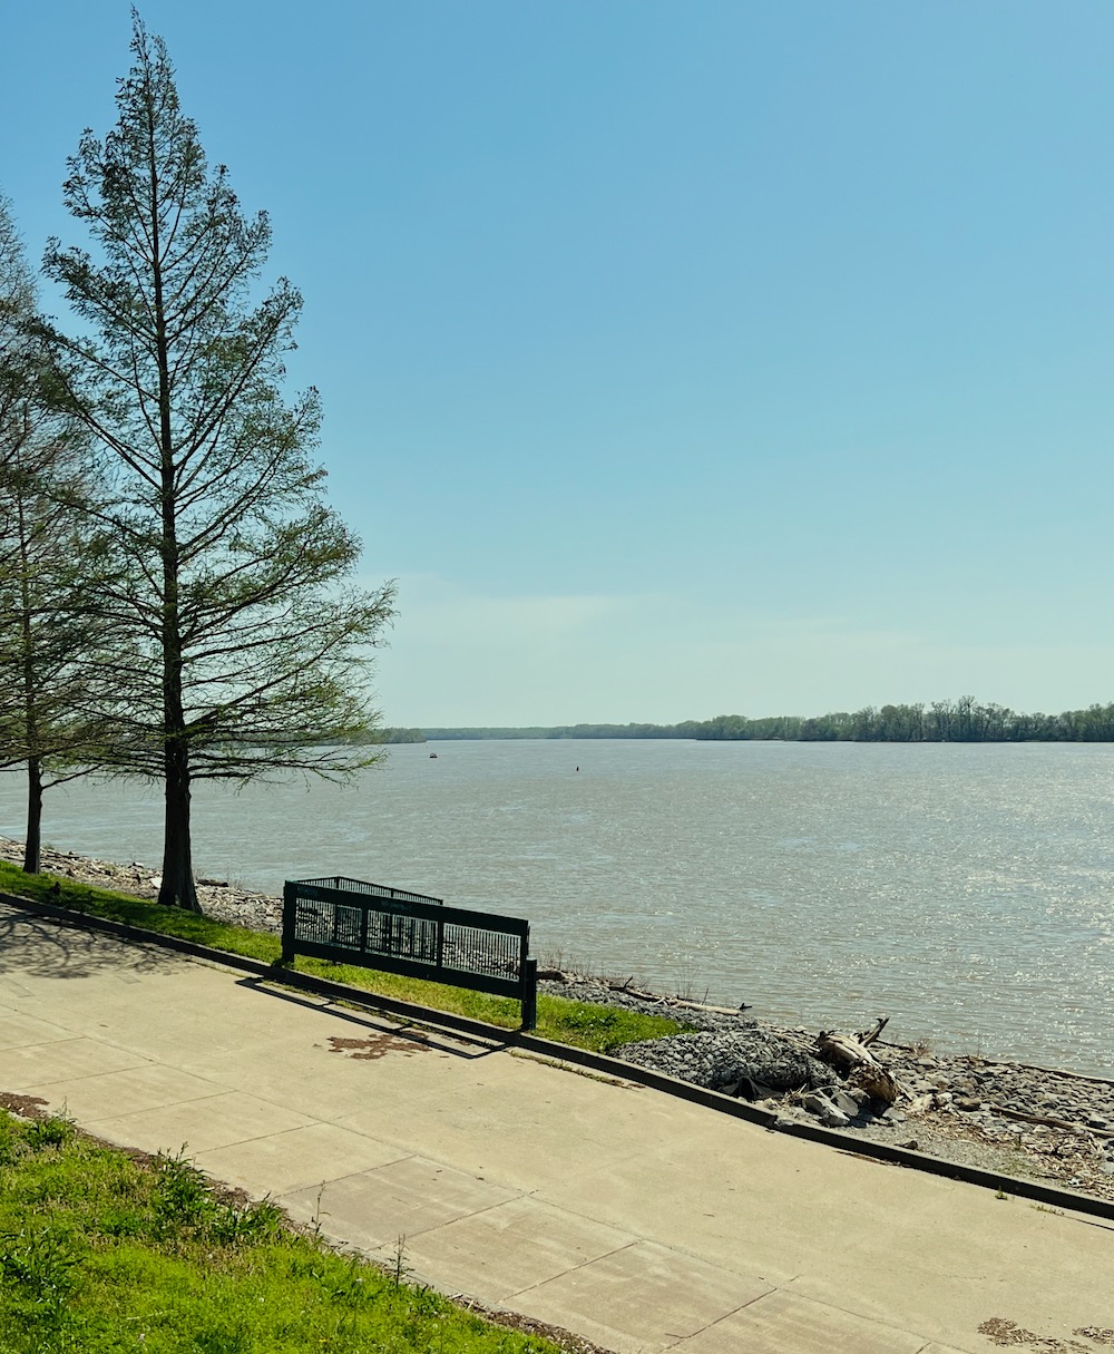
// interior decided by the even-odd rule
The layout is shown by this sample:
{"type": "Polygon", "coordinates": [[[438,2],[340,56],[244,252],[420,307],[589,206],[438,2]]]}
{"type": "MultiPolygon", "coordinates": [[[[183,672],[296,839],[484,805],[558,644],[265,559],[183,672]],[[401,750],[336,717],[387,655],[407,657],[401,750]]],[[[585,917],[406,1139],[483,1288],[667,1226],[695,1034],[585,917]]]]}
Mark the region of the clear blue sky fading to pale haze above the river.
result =
{"type": "MultiPolygon", "coordinates": [[[[388,723],[1114,700],[1109,0],[139,8],[305,294],[388,723]]],[[[38,259],[130,12],[0,31],[38,259]]]]}

